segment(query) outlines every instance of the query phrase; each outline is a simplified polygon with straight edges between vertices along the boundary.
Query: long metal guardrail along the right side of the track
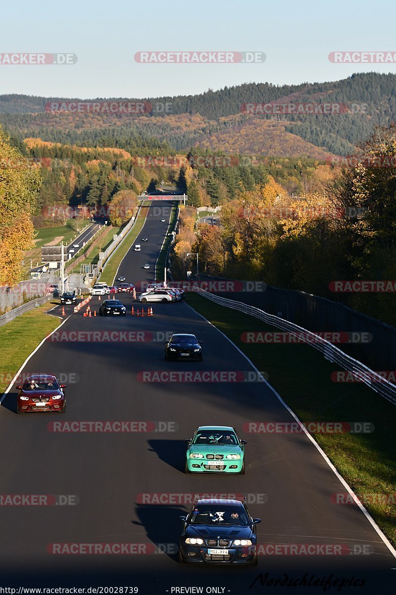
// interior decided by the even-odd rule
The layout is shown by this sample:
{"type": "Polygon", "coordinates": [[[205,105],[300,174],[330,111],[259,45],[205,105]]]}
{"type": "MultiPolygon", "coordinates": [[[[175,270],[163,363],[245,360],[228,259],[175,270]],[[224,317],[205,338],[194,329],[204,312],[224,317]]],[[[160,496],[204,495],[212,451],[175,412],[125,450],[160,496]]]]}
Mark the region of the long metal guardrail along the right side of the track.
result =
{"type": "Polygon", "coordinates": [[[318,334],[312,333],[306,328],[299,327],[293,322],[284,320],[284,318],[279,318],[273,314],[268,314],[267,312],[264,312],[264,310],[255,308],[255,306],[249,306],[243,302],[236,302],[235,300],[227,299],[227,297],[214,295],[213,293],[206,292],[200,287],[192,286],[190,290],[203,297],[206,297],[212,302],[218,303],[221,306],[227,306],[227,308],[232,308],[239,312],[243,312],[243,314],[248,314],[249,316],[258,318],[263,322],[267,322],[267,324],[270,324],[276,328],[280,328],[283,331],[287,331],[293,336],[299,336],[303,334],[303,336],[306,337],[306,343],[323,353],[325,359],[332,362],[333,364],[339,365],[347,372],[351,372],[351,374],[353,374],[357,380],[362,381],[370,389],[375,390],[375,392],[384,397],[384,399],[387,399],[393,403],[393,405],[396,405],[396,386],[394,384],[389,382],[389,380],[386,378],[383,378],[377,372],[362,364],[362,362],[351,358],[351,356],[347,355],[341,351],[341,349],[338,349],[338,347],[335,347],[335,345],[326,339],[323,339],[318,334]]]}

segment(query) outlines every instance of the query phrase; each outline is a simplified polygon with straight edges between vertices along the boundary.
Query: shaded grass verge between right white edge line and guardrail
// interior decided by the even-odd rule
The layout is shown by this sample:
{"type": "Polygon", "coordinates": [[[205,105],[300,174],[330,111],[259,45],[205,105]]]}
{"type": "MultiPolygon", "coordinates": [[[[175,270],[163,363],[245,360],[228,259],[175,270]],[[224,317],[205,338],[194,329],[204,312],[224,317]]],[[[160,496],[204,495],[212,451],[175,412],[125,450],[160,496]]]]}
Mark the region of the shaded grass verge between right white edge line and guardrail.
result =
{"type": "Polygon", "coordinates": [[[333,382],[331,372],[340,368],[309,345],[241,340],[246,331],[273,332],[278,330],[275,327],[194,293],[188,294],[187,302],[223,331],[256,368],[267,372],[270,384],[302,422],[366,421],[374,425],[370,434],[314,437],[395,546],[396,406],[365,384],[333,382]],[[387,500],[381,502],[381,496],[387,500]]]}

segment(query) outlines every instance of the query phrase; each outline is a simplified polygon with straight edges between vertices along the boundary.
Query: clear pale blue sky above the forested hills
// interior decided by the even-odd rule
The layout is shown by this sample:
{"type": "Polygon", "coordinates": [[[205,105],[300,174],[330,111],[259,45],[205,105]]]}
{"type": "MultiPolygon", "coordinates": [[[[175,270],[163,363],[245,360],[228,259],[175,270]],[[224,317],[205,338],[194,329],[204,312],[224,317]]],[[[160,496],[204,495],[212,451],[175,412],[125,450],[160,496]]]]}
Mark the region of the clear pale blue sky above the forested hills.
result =
{"type": "Polygon", "coordinates": [[[249,82],[293,84],[392,72],[332,64],[332,51],[396,51],[394,0],[8,2],[0,53],[70,52],[74,65],[0,65],[0,94],[192,95],[249,82]],[[138,51],[262,51],[264,64],[139,64],[138,51]]]}

